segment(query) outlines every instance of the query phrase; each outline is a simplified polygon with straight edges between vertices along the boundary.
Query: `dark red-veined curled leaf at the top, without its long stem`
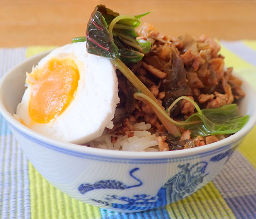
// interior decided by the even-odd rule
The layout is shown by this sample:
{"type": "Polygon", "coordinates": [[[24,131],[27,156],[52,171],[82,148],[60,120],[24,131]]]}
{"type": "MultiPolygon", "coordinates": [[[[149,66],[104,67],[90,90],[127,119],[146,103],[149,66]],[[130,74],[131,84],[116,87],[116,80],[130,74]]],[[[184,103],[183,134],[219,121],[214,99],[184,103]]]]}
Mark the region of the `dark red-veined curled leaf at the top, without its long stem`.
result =
{"type": "MultiPolygon", "coordinates": [[[[120,58],[126,64],[138,62],[144,51],[136,40],[135,27],[141,23],[139,18],[146,14],[148,12],[137,16],[120,15],[104,5],[97,5],[87,24],[87,51],[106,58],[120,58]]],[[[143,47],[149,50],[148,43],[143,47]]]]}

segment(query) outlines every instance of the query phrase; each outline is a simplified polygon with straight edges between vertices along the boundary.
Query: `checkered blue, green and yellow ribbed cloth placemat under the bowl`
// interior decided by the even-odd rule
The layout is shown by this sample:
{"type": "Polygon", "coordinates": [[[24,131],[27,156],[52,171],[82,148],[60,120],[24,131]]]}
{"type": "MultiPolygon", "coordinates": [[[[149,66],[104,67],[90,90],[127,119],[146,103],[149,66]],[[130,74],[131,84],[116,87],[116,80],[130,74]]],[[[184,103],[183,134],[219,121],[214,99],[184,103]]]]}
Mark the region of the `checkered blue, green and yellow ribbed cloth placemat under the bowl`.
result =
{"type": "MultiPolygon", "coordinates": [[[[227,66],[256,89],[256,41],[221,41],[227,66]]],[[[12,66],[54,46],[0,49],[0,77],[12,66]]],[[[256,101],[256,100],[255,100],[256,101]]],[[[138,213],[84,204],[50,185],[22,153],[0,116],[0,219],[256,219],[256,127],[214,180],[187,198],[138,213]]]]}

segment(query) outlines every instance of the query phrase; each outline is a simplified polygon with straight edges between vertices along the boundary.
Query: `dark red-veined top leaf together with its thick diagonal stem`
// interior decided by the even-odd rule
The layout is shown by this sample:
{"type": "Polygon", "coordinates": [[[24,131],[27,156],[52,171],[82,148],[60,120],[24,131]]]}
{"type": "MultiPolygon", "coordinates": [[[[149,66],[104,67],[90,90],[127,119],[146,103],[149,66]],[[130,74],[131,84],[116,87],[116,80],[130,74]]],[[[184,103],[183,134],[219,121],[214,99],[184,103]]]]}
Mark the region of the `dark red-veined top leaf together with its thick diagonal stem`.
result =
{"type": "MultiPolygon", "coordinates": [[[[109,58],[112,64],[127,77],[139,92],[147,95],[161,107],[155,96],[125,65],[140,61],[144,53],[150,51],[151,43],[137,41],[135,32],[135,27],[138,27],[141,23],[140,18],[147,14],[149,12],[136,16],[119,15],[104,5],[97,5],[87,24],[86,49],[88,53],[109,58]]],[[[159,114],[158,111],[154,110],[154,112],[156,115],[159,114]]],[[[180,137],[180,131],[174,124],[163,119],[164,117],[160,114],[158,118],[170,134],[175,138],[180,137]]]]}

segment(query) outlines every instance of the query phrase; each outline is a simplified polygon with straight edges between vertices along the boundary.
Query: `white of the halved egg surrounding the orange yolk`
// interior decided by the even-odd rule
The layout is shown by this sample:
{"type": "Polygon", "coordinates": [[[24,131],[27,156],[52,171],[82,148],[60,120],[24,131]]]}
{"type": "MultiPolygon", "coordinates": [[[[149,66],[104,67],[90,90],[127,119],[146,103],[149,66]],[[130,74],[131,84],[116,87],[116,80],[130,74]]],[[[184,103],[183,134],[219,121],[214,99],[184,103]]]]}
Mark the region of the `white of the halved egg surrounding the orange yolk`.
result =
{"type": "Polygon", "coordinates": [[[29,128],[48,137],[76,144],[92,141],[102,135],[105,127],[113,127],[112,119],[119,103],[115,68],[108,59],[87,53],[85,42],[78,42],[53,50],[35,69],[43,68],[54,57],[72,58],[78,66],[80,78],[74,99],[51,122],[32,124],[29,115],[31,86],[26,84],[16,114],[29,128]]]}

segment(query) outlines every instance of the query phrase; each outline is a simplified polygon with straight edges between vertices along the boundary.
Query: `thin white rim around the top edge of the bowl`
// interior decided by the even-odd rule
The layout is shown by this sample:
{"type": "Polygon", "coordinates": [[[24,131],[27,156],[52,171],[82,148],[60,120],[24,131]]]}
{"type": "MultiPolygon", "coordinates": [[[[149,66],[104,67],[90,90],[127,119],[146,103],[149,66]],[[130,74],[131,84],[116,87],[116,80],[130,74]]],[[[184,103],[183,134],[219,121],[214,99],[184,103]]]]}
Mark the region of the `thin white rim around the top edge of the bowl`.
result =
{"type": "MultiPolygon", "coordinates": [[[[18,65],[15,65],[13,68],[7,71],[1,77],[0,80],[0,91],[3,87],[3,84],[5,80],[15,72],[15,70],[19,69],[21,66],[27,64],[27,62],[33,61],[33,59],[42,58],[45,55],[47,55],[49,51],[45,51],[36,55],[33,55],[30,58],[25,59],[24,61],[20,62],[18,65]]],[[[32,66],[31,66],[32,67],[32,66]]],[[[237,75],[236,75],[237,76],[237,75]]],[[[241,78],[240,76],[237,76],[241,78]]],[[[251,91],[251,95],[255,97],[256,99],[256,91],[252,88],[252,86],[247,82],[244,78],[241,78],[243,81],[243,84],[249,88],[251,91]]],[[[256,124],[256,102],[252,101],[250,104],[251,107],[253,107],[255,110],[253,111],[253,114],[250,116],[249,121],[245,124],[245,126],[235,134],[231,135],[230,137],[227,137],[225,139],[222,139],[221,141],[214,142],[208,145],[200,146],[200,147],[194,147],[189,149],[182,149],[182,150],[174,150],[174,151],[120,151],[120,150],[107,150],[107,149],[99,149],[99,148],[93,148],[93,147],[86,147],[83,145],[76,145],[73,143],[68,142],[62,142],[58,141],[49,137],[46,137],[42,134],[39,134],[38,132],[35,132],[31,130],[30,128],[24,126],[20,122],[18,122],[5,108],[3,104],[3,95],[0,92],[0,113],[4,117],[5,120],[18,132],[25,134],[27,137],[31,137],[33,140],[38,140],[41,142],[44,142],[48,144],[49,146],[52,146],[51,149],[56,150],[56,148],[68,150],[70,152],[78,152],[88,155],[96,155],[99,157],[105,157],[105,158],[124,158],[124,159],[159,159],[159,158],[177,158],[177,157],[186,157],[189,155],[198,155],[203,154],[212,150],[216,150],[219,148],[223,148],[227,145],[230,145],[233,142],[239,141],[242,139],[246,134],[248,134],[249,131],[255,126],[256,124]]]]}

